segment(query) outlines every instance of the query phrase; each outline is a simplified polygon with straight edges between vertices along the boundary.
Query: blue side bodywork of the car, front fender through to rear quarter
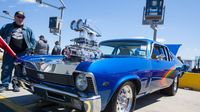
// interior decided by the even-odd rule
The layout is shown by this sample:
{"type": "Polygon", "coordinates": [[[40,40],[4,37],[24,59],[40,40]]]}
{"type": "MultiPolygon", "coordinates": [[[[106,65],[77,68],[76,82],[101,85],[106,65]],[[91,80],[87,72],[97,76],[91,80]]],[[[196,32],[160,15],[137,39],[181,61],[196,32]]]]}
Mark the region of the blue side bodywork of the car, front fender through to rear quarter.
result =
{"type": "MultiPolygon", "coordinates": [[[[152,43],[152,41],[149,41],[148,43],[152,43]]],[[[89,67],[86,67],[83,64],[78,68],[86,68],[86,72],[92,72],[96,79],[101,79],[96,80],[96,83],[98,91],[100,91],[99,94],[103,96],[102,108],[104,109],[117,88],[128,80],[138,80],[140,82],[141,88],[139,88],[140,92],[138,95],[151,93],[164,87],[169,87],[172,84],[177,72],[167,79],[167,85],[162,85],[160,80],[162,79],[163,74],[168,72],[175,63],[178,63],[178,61],[160,62],[153,59],[149,60],[148,58],[150,58],[150,55],[149,51],[147,52],[148,57],[146,59],[136,57],[115,58],[114,56],[109,56],[107,59],[101,59],[90,64],[87,63],[89,67]],[[130,67],[127,65],[133,66],[130,67]],[[102,84],[104,82],[109,82],[110,87],[103,87],[102,84]]],[[[79,70],[78,68],[77,70],[79,70]]]]}

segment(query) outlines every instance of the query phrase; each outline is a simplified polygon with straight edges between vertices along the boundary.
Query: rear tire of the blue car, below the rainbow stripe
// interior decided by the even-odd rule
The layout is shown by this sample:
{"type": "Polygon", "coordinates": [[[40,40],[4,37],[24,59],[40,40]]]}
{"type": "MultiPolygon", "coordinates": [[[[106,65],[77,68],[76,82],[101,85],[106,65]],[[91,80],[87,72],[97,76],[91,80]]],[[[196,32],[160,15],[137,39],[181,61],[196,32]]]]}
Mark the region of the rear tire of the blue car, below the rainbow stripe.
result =
{"type": "Polygon", "coordinates": [[[172,85],[169,86],[168,88],[161,90],[161,93],[163,93],[164,95],[168,95],[168,96],[176,95],[176,93],[178,91],[178,84],[179,84],[179,76],[176,76],[174,78],[172,85]]]}

